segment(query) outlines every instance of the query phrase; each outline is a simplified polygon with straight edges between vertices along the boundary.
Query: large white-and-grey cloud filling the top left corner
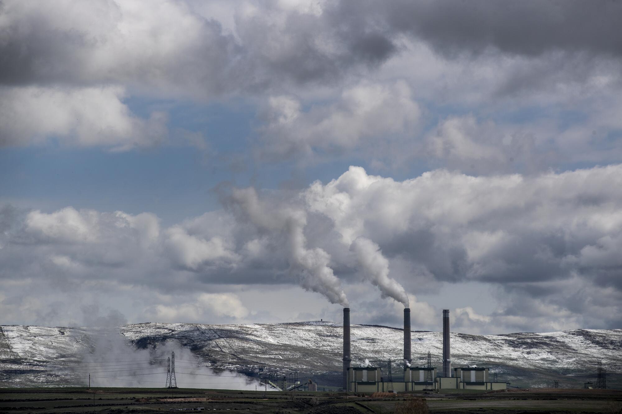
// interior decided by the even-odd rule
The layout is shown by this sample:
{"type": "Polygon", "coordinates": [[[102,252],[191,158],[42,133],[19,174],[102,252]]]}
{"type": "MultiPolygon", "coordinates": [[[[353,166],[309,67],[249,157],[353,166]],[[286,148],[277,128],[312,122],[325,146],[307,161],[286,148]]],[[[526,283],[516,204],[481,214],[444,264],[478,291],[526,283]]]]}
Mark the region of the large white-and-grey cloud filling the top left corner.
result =
{"type": "Polygon", "coordinates": [[[198,82],[209,93],[220,93],[222,74],[230,82],[239,81],[243,66],[233,63],[241,51],[221,33],[218,22],[193,18],[181,4],[143,4],[146,12],[141,16],[136,16],[136,6],[6,2],[0,83],[160,85],[174,92],[190,90],[198,82]],[[178,19],[183,18],[192,24],[182,27],[178,19]]]}

